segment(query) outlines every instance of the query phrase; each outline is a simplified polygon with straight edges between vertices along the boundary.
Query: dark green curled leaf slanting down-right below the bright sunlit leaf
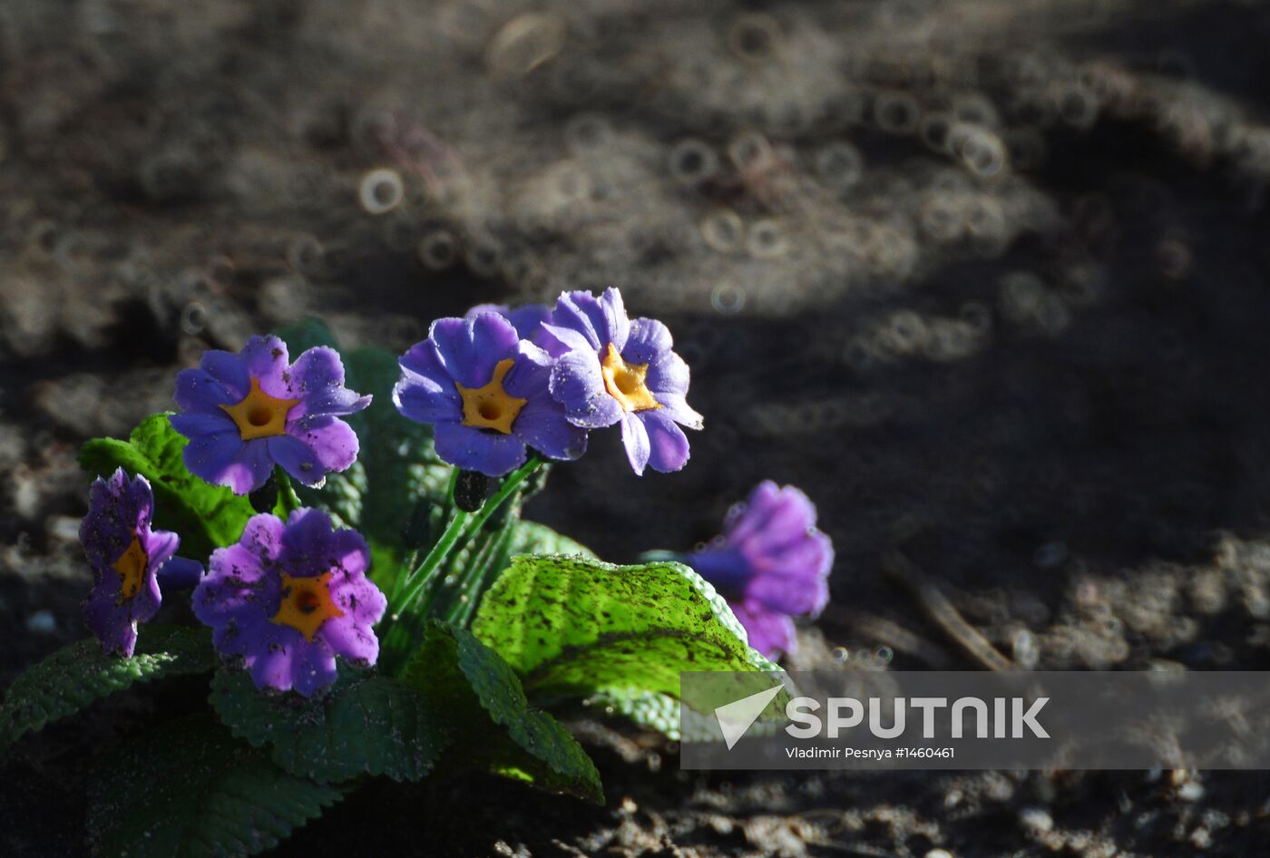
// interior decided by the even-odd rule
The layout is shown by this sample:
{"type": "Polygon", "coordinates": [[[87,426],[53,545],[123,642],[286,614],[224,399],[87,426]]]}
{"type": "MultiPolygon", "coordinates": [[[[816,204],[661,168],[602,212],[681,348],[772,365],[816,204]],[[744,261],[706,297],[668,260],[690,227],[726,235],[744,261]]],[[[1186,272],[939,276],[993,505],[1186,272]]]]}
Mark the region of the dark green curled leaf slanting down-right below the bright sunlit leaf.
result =
{"type": "Polygon", "coordinates": [[[512,668],[466,630],[428,623],[403,678],[453,725],[456,764],[603,802],[587,753],[555,718],[528,704],[512,668]]]}

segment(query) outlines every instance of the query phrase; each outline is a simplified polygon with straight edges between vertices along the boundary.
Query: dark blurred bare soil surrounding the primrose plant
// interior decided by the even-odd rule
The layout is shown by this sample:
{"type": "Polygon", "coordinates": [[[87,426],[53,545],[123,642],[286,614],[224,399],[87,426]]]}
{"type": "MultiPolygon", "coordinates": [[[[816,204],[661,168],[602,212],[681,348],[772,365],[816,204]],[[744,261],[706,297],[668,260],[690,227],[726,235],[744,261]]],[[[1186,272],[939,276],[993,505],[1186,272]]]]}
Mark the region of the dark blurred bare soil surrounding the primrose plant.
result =
{"type": "MultiPolygon", "coordinates": [[[[706,429],[643,478],[596,437],[531,518],[624,562],[799,485],[837,561],[798,666],[986,666],[899,555],[1021,668],[1270,668],[1267,38],[1252,0],[0,5],[0,687],[84,633],[79,444],[203,349],[608,284],[706,429]]],[[[86,854],[93,762],[201,693],[24,740],[0,854],[86,854]]],[[[1270,850],[1266,773],[698,774],[570,723],[605,807],[376,782],[277,854],[1270,850]]]]}

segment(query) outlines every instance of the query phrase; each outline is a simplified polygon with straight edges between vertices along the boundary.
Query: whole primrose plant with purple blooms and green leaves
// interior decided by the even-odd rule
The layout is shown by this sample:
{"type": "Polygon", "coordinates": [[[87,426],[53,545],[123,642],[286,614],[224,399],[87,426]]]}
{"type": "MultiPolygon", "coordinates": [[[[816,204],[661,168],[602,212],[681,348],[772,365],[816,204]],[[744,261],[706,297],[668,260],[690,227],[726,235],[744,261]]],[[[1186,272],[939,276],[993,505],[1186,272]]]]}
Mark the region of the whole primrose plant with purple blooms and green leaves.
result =
{"type": "Polygon", "coordinates": [[[521,518],[591,432],[620,424],[636,475],[682,468],[687,393],[665,325],[617,289],[439,319],[400,358],[342,353],[316,321],[204,353],[177,412],[84,446],[97,640],[13,683],[0,750],[136,683],[210,675],[206,707],[95,767],[94,850],[132,858],[268,849],[370,777],[485,769],[602,801],[540,707],[673,736],[682,670],[776,669],[790,618],[828,594],[832,548],[791,487],[639,566],[521,518]]]}

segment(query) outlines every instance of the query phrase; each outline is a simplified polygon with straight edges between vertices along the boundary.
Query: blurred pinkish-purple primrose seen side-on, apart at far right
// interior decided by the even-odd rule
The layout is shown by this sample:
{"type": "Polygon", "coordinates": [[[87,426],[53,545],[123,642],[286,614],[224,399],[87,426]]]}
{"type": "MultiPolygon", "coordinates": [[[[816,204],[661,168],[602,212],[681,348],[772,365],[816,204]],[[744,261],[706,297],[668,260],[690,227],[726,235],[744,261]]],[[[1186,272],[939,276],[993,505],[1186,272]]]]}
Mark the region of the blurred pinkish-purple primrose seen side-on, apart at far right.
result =
{"type": "Polygon", "coordinates": [[[749,645],[773,657],[792,652],[791,617],[829,600],[833,543],[815,529],[815,505],[794,486],[761,482],[728,513],[723,536],[686,562],[728,599],[749,645]]]}

